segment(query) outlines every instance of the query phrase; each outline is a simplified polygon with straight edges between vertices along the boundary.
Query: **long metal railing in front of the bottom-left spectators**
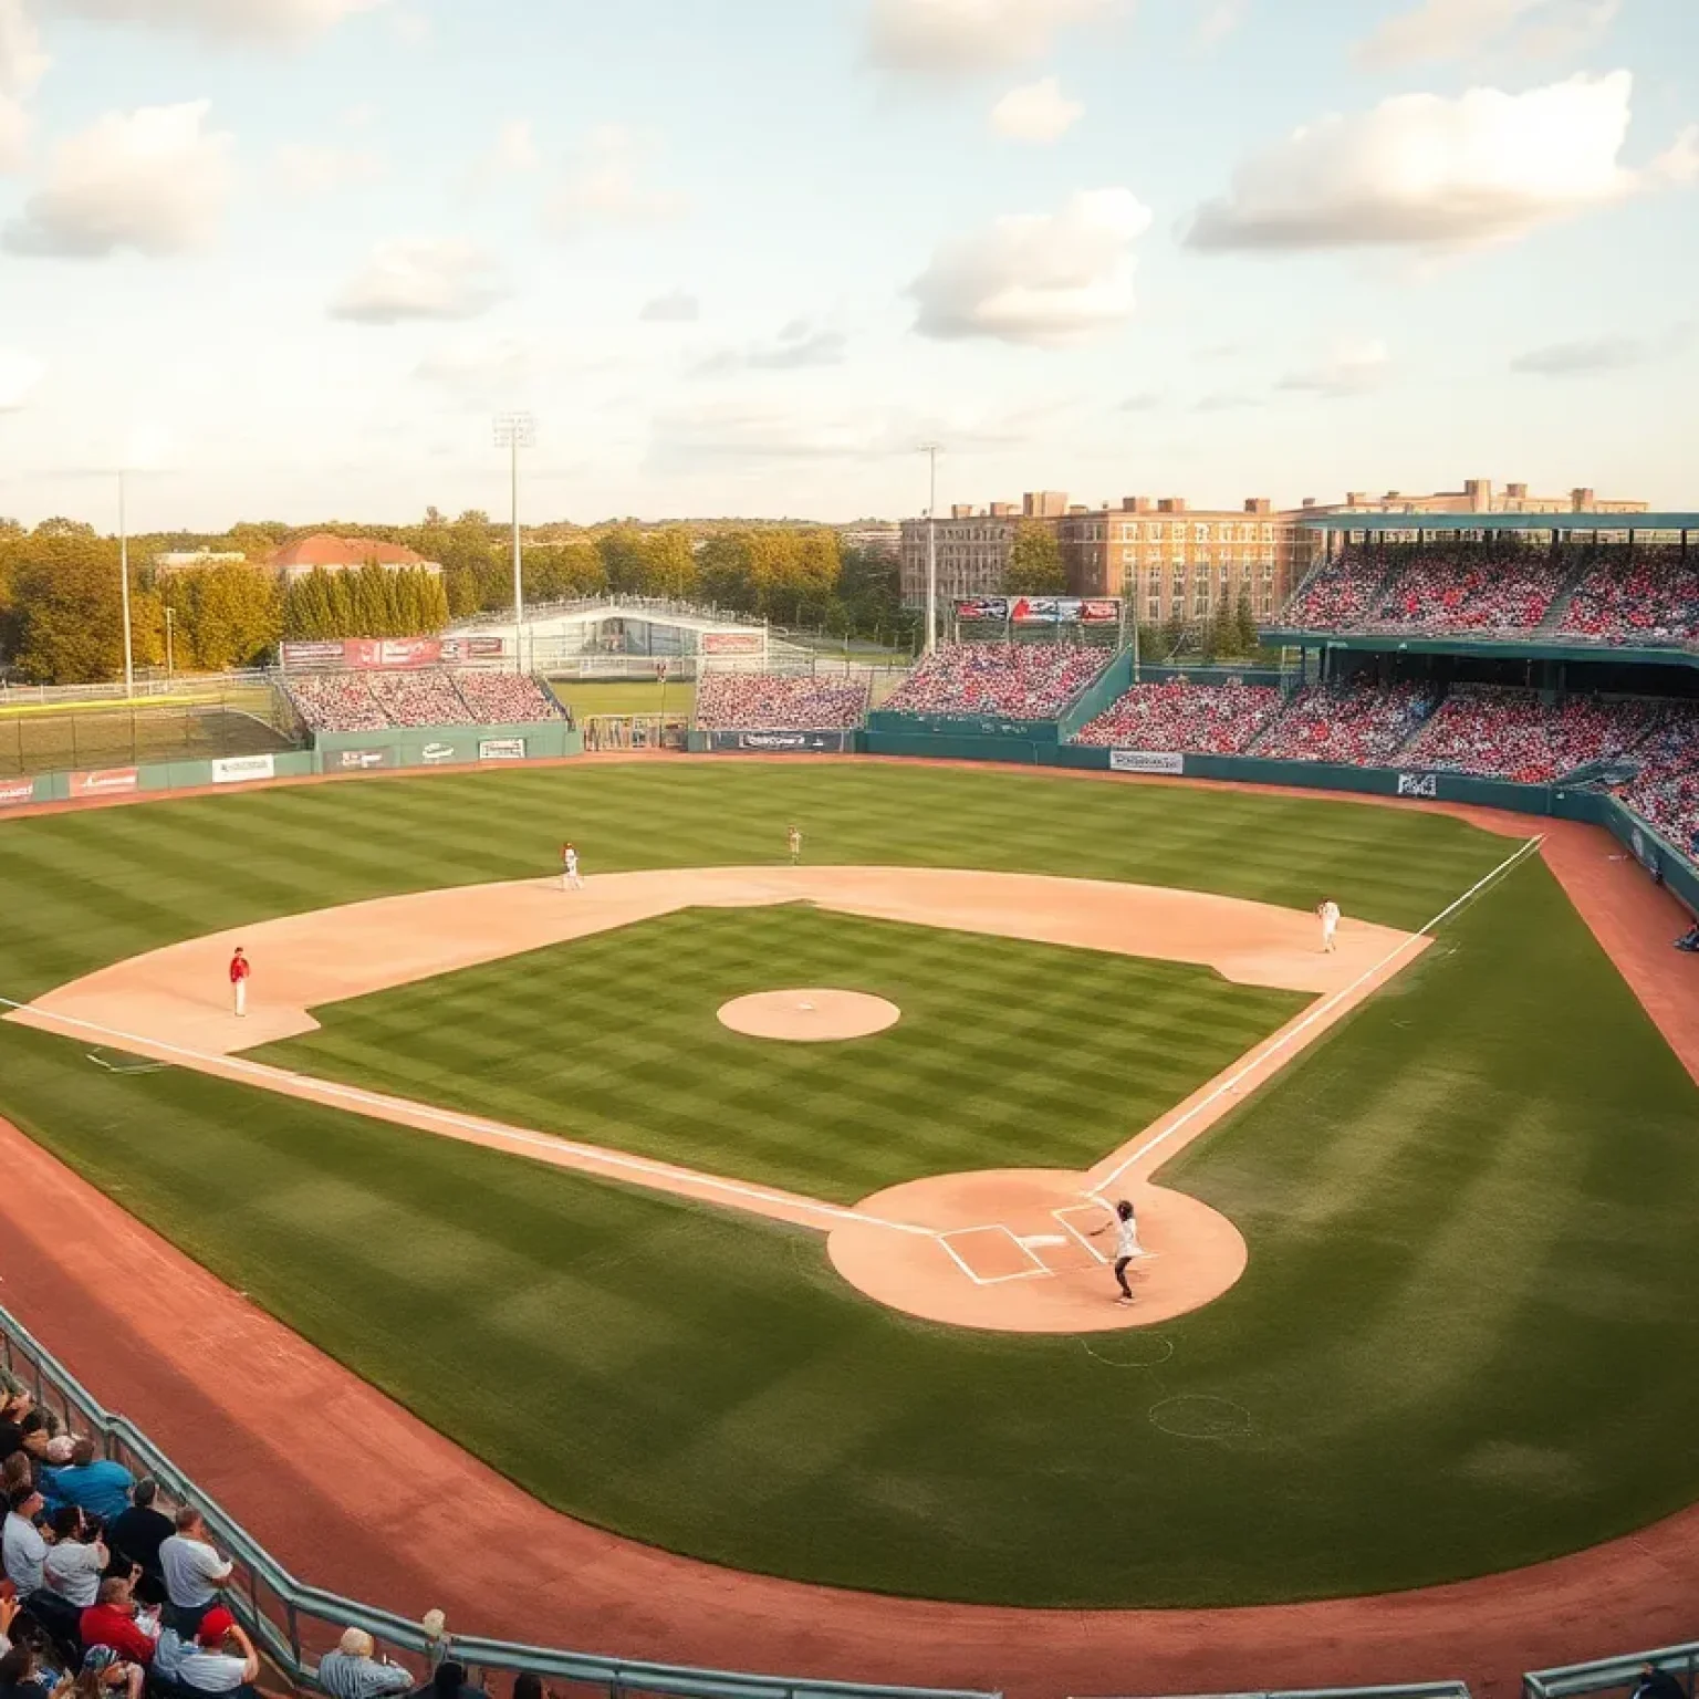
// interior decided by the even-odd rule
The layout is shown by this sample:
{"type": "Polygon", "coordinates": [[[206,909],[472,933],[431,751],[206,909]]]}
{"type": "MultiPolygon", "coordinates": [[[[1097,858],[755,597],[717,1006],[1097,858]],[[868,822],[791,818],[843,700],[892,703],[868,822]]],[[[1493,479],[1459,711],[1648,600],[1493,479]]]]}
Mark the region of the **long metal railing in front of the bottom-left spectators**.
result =
{"type": "Polygon", "coordinates": [[[136,1475],[153,1476],[160,1485],[161,1509],[192,1504],[200,1510],[214,1541],[234,1566],[224,1602],[253,1636],[260,1653],[296,1687],[313,1687],[319,1657],[336,1645],[343,1629],[364,1628],[379,1650],[406,1665],[421,1682],[445,1657],[454,1657],[486,1691],[493,1675],[532,1672],[547,1682],[601,1689],[608,1699],[624,1699],[625,1694],[678,1699],[1002,1699],[1001,1692],[974,1689],[751,1675],[527,1646],[477,1634],[433,1636],[421,1623],[394,1611],[343,1599],[291,1575],[229,1510],[202,1492],[134,1422],[107,1410],[5,1308],[0,1308],[0,1363],[14,1383],[34,1393],[37,1408],[97,1439],[109,1458],[136,1475]]]}

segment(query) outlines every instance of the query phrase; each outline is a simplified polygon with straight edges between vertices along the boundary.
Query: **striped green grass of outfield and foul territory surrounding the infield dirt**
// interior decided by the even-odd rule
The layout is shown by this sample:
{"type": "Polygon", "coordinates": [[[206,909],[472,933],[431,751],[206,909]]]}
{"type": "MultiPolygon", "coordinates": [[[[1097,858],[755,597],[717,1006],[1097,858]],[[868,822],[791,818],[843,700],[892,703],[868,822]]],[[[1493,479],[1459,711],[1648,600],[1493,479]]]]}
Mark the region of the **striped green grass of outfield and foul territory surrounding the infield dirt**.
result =
{"type": "MultiPolygon", "coordinates": [[[[564,827],[591,873],[778,860],[792,816],[822,860],[1332,890],[1395,926],[1510,848],[1391,809],[1009,771],[326,785],[0,826],[0,991],[241,919],[542,873],[564,827]]],[[[601,1036],[601,1001],[562,1004],[561,1036],[601,1036]]],[[[807,1232],[224,1081],[104,1074],[7,1024],[0,1108],[539,1495],[744,1568],[1276,1600],[1505,1568],[1699,1495],[1699,1091],[1536,861],[1167,1172],[1239,1222],[1250,1264],[1160,1329],[1155,1366],[1149,1334],[894,1315],[807,1232]]],[[[73,1368],[99,1388],[99,1363],[73,1368]]]]}

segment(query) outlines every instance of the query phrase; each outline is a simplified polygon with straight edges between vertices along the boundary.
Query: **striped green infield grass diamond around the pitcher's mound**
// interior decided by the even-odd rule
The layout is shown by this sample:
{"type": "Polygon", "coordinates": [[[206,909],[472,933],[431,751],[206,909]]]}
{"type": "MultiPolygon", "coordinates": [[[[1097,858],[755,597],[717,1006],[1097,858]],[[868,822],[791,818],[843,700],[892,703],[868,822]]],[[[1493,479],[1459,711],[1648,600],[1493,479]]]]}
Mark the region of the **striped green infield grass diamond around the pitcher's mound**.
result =
{"type": "Polygon", "coordinates": [[[257,1060],[834,1203],[1091,1167],[1303,1009],[1210,968],[827,914],[668,914],[319,1009],[257,1060]],[[855,1043],[731,1033],[731,997],[887,997],[855,1043]],[[1065,1036],[1062,1036],[1065,1035],[1065,1036]]]}

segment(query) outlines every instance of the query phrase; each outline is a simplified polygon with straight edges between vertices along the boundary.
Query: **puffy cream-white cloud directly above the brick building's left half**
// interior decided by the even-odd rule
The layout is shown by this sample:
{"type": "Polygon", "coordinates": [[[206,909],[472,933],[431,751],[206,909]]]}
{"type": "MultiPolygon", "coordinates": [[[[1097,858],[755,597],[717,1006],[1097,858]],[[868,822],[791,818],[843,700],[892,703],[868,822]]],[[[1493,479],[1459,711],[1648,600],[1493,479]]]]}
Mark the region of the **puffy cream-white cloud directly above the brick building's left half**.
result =
{"type": "Polygon", "coordinates": [[[1084,190],[1053,214],[1001,217],[933,255],[909,287],[914,328],[945,341],[1079,341],[1132,316],[1133,243],[1149,228],[1149,207],[1128,189],[1084,190]]]}

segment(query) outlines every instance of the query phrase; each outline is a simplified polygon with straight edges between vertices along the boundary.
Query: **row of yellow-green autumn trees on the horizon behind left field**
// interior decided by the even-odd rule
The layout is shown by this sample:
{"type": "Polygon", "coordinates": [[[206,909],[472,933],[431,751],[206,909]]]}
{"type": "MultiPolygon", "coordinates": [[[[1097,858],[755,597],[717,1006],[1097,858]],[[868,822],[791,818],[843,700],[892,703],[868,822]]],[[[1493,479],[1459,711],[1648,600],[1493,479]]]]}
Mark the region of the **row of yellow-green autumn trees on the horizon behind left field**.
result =
{"type": "MultiPolygon", "coordinates": [[[[285,639],[413,637],[513,607],[506,533],[486,513],[447,520],[435,510],[413,527],[323,525],[345,537],[403,544],[442,567],[314,571],[284,588],[263,561],[302,532],[243,523],[209,537],[160,533],[129,544],[133,654],[138,669],[221,673],[262,666],[285,639]],[[155,556],[241,552],[160,571],[155,556]]],[[[780,625],[907,642],[914,615],[899,605],[897,564],[844,549],[834,530],[746,525],[698,547],[690,528],[612,525],[561,542],[527,542],[528,607],[617,591],[712,601],[780,625]]],[[[29,683],[93,683],[122,676],[119,544],[76,520],[24,530],[0,520],[0,663],[29,683]]]]}

